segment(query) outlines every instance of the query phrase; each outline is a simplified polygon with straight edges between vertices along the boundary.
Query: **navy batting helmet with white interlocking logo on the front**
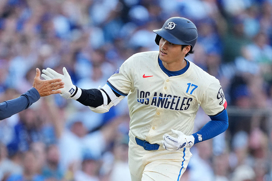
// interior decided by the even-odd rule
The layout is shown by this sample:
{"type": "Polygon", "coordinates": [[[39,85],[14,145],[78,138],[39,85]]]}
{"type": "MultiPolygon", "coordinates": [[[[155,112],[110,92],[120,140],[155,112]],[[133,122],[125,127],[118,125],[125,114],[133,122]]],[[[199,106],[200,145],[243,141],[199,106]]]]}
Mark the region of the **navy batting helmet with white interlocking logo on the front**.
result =
{"type": "Polygon", "coordinates": [[[177,45],[191,45],[192,49],[197,40],[196,25],[184,17],[171,17],[165,21],[163,27],[159,30],[153,30],[157,33],[155,42],[159,45],[160,38],[163,37],[170,43],[177,45]]]}

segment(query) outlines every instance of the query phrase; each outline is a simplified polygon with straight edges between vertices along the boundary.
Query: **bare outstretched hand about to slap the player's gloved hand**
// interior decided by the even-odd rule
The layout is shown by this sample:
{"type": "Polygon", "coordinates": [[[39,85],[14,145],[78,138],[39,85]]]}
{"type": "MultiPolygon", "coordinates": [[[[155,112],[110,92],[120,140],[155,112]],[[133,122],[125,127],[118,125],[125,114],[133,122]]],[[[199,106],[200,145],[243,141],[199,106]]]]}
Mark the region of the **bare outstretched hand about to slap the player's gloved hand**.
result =
{"type": "Polygon", "coordinates": [[[44,97],[51,94],[59,94],[61,91],[58,89],[64,87],[64,82],[61,81],[61,78],[41,80],[40,69],[36,68],[36,76],[34,78],[33,87],[37,89],[40,97],[44,97]]]}

